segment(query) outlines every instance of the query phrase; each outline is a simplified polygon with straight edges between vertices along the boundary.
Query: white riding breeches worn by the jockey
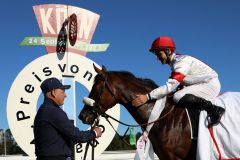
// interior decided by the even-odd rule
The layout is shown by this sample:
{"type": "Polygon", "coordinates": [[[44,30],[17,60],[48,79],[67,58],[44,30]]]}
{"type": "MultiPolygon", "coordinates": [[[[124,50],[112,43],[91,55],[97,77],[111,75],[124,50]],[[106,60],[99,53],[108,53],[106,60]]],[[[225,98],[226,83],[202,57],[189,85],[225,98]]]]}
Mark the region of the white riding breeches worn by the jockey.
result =
{"type": "Polygon", "coordinates": [[[220,93],[220,88],[221,84],[218,78],[213,78],[207,83],[194,84],[184,87],[174,94],[173,100],[177,103],[185,94],[193,94],[197,97],[213,101],[220,93]]]}

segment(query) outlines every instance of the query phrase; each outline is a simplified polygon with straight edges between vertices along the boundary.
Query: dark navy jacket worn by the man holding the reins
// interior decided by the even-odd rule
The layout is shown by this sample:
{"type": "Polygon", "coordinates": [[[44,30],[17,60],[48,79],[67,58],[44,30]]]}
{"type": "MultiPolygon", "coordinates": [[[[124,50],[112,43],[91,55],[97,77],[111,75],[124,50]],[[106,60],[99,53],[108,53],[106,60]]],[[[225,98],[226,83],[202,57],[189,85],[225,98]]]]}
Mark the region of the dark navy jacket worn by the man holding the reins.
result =
{"type": "Polygon", "coordinates": [[[80,131],[67,114],[51,99],[45,98],[34,120],[35,154],[71,156],[71,144],[96,138],[94,131],[80,131]]]}

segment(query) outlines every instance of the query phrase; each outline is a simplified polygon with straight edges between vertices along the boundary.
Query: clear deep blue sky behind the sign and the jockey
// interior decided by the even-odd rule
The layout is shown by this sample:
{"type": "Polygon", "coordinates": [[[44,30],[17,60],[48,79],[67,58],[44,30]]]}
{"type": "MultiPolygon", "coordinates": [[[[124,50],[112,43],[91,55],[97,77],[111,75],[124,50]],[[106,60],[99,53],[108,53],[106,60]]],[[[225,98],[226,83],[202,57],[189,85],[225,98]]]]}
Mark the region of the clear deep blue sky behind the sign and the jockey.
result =
{"type": "MultiPolygon", "coordinates": [[[[43,46],[19,45],[26,36],[41,35],[32,6],[50,3],[100,15],[92,43],[110,43],[110,47],[87,57],[108,70],[126,70],[164,84],[170,69],[148,49],[156,37],[165,35],[175,40],[176,52],[199,58],[218,72],[221,92],[240,90],[238,0],[8,0],[0,5],[0,128],[8,128],[6,101],[14,79],[28,63],[46,54],[43,46]]],[[[124,108],[121,120],[135,123],[124,108]]]]}

